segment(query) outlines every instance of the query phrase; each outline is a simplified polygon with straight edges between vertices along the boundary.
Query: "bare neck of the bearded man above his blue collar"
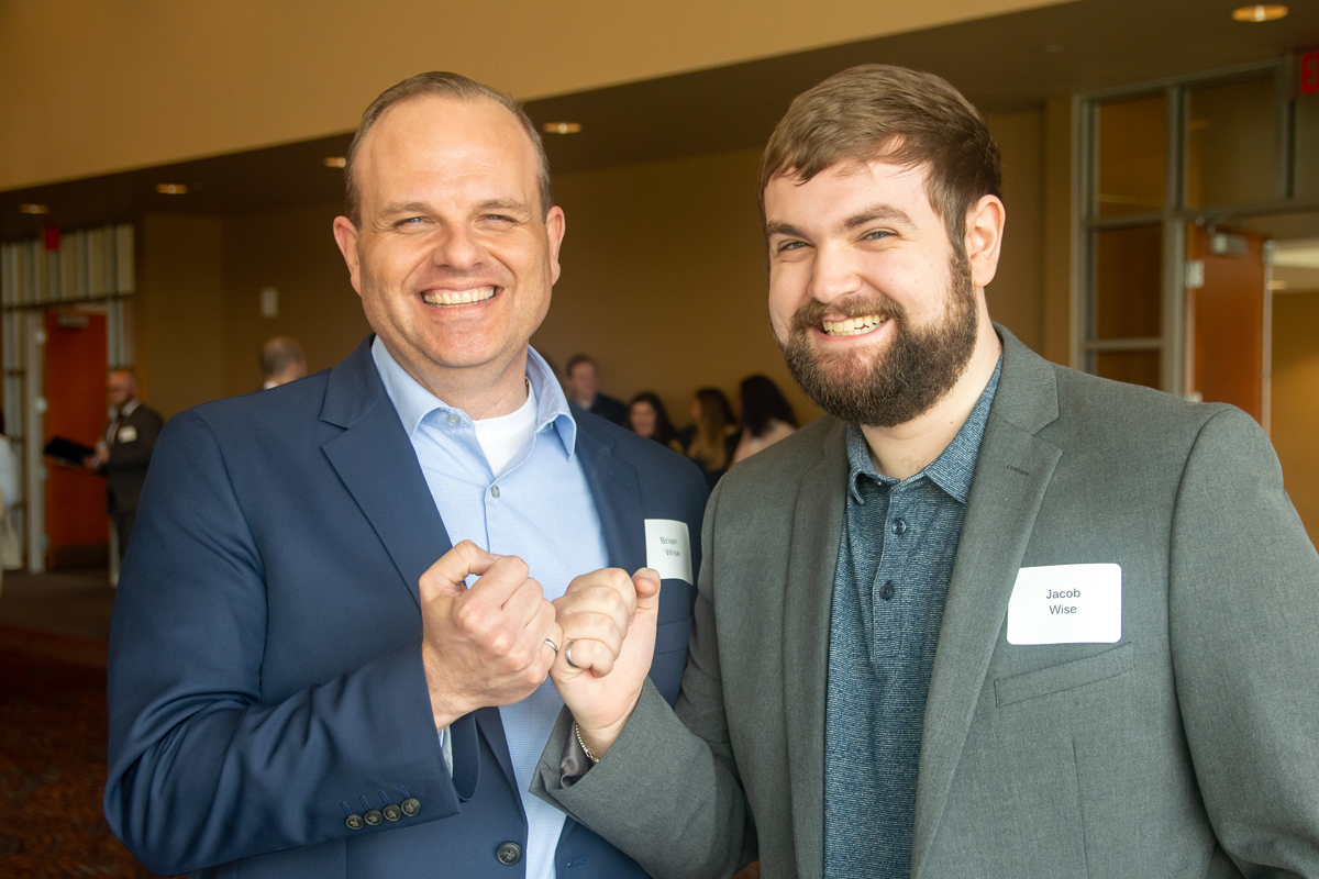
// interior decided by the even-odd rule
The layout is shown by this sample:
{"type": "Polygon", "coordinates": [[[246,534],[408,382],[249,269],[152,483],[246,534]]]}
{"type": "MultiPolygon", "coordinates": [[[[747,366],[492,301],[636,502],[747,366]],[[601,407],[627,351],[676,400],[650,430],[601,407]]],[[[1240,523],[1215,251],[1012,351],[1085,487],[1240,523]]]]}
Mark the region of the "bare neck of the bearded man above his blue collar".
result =
{"type": "Polygon", "coordinates": [[[910,422],[893,427],[861,427],[865,443],[871,447],[871,463],[884,476],[905,480],[919,473],[948,447],[952,438],[966,424],[976,401],[984,393],[1002,343],[989,323],[989,315],[981,310],[980,329],[976,333],[976,347],[971,352],[967,369],[947,394],[929,410],[910,422]]]}

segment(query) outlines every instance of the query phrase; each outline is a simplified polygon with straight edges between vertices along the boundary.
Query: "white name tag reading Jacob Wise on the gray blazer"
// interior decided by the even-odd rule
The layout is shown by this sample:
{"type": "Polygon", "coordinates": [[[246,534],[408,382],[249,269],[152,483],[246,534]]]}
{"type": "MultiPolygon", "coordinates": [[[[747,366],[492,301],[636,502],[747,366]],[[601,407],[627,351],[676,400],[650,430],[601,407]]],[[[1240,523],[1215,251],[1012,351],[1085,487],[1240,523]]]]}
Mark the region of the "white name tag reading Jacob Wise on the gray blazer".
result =
{"type": "Polygon", "coordinates": [[[1116,644],[1122,639],[1122,568],[1022,568],[1008,600],[1009,644],[1116,644]]]}

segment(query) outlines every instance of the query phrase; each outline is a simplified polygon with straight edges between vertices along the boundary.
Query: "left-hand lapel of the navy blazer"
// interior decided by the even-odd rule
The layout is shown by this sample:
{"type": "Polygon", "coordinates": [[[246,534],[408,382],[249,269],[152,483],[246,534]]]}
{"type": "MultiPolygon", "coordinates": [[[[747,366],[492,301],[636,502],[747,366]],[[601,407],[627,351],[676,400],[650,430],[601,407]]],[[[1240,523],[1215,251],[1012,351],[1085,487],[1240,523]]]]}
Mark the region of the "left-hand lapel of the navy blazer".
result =
{"type": "Polygon", "coordinates": [[[330,370],[321,420],[344,431],[321,449],[385,544],[419,609],[417,581],[452,543],[371,360],[373,339],[368,336],[330,370]]]}

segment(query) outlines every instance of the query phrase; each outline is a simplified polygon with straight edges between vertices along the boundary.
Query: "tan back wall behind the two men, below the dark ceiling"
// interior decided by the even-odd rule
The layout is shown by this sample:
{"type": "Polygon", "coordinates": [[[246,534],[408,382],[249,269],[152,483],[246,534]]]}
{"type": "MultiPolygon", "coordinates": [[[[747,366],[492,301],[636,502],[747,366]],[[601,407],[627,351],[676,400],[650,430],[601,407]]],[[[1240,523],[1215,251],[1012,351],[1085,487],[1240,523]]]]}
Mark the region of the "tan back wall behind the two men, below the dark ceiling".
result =
{"type": "MultiPolygon", "coordinates": [[[[1039,349],[1043,113],[991,124],[1012,217],[991,311],[1039,349]]],[[[756,372],[783,387],[803,420],[818,415],[769,331],[758,165],[760,153],[748,150],[558,175],[555,194],[567,215],[563,277],[533,344],[561,366],[590,352],[607,393],[654,390],[679,424],[696,387],[716,385],[736,401],[737,383],[756,372]]],[[[330,235],[338,208],[149,220],[138,360],[150,369],[153,402],[173,412],[253,390],[261,381],[257,351],[274,335],[298,339],[311,370],[352,351],[369,327],[330,235]],[[266,286],[280,291],[277,318],[260,314],[266,286]],[[195,310],[185,308],[189,297],[195,310]],[[158,385],[166,376],[168,391],[158,385]]]]}

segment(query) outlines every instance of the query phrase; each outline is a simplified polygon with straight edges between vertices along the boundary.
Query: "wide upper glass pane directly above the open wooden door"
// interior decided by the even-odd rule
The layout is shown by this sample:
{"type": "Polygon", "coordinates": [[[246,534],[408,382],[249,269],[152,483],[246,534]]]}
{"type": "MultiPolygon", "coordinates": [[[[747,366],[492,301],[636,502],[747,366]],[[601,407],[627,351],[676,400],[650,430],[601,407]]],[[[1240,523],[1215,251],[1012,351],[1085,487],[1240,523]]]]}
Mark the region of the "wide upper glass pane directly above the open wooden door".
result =
{"type": "Polygon", "coordinates": [[[1187,207],[1277,199],[1274,78],[1191,90],[1186,142],[1187,207]]]}

